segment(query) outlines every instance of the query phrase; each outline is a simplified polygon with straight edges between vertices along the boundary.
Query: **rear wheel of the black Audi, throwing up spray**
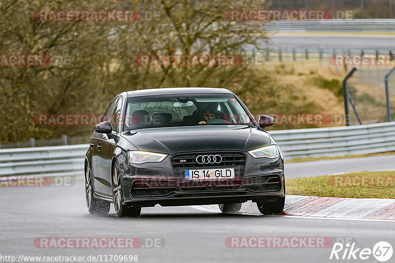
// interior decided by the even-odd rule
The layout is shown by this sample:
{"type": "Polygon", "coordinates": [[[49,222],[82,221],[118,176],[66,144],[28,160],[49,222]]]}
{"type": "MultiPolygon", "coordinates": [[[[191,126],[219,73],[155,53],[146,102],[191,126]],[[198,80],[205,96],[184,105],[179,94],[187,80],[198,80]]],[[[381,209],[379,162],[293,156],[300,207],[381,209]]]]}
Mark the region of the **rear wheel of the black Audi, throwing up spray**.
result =
{"type": "Polygon", "coordinates": [[[86,165],[85,170],[85,200],[90,214],[105,216],[110,212],[110,202],[98,199],[93,195],[93,183],[89,165],[86,165]]]}

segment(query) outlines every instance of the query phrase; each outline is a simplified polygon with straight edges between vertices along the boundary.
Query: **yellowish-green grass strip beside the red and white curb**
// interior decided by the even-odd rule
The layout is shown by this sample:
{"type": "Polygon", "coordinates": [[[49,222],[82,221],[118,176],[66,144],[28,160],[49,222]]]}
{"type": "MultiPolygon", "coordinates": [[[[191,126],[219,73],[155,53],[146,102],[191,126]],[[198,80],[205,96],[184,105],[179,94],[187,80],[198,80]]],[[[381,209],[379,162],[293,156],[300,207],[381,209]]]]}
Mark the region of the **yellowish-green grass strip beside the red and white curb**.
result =
{"type": "MultiPolygon", "coordinates": [[[[315,197],[395,198],[395,187],[335,186],[329,182],[332,176],[337,175],[286,179],[286,194],[315,197]]],[[[395,178],[395,171],[354,172],[345,176],[391,176],[395,178]]],[[[392,185],[395,185],[395,182],[392,185]]]]}

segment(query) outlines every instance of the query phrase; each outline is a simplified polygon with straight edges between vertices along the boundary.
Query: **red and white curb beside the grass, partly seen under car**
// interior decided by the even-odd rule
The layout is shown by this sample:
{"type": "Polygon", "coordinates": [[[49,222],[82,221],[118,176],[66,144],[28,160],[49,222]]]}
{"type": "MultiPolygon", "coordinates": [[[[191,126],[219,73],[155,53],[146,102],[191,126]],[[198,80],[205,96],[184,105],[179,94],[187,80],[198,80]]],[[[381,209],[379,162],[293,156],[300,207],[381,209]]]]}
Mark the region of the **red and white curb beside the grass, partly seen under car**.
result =
{"type": "MultiPolygon", "coordinates": [[[[193,205],[205,212],[217,212],[218,205],[193,205]]],[[[255,203],[243,203],[240,212],[261,215],[255,203]]],[[[395,222],[395,199],[286,196],[283,216],[395,222]]]]}

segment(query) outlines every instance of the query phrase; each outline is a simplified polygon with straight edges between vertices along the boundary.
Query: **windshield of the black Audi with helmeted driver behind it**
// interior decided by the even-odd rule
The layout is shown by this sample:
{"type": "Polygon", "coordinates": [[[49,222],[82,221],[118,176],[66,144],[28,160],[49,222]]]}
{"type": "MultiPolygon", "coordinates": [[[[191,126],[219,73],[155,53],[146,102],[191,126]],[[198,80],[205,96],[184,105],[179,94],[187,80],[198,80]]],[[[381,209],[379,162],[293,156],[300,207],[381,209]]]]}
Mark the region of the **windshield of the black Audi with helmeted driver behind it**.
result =
{"type": "Polygon", "coordinates": [[[232,94],[134,97],[127,100],[125,130],[253,122],[232,94]]]}

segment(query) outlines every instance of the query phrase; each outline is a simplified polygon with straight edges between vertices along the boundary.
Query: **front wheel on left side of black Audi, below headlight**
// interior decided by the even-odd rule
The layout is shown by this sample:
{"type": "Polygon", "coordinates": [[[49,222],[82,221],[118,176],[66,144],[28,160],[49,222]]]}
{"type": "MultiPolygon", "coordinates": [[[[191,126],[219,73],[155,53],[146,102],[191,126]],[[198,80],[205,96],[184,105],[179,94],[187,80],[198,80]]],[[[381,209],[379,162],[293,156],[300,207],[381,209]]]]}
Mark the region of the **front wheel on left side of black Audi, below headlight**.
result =
{"type": "Polygon", "coordinates": [[[141,213],[141,207],[132,207],[122,203],[123,191],[119,174],[118,162],[113,167],[113,197],[114,209],[118,217],[138,217],[141,213]]]}

